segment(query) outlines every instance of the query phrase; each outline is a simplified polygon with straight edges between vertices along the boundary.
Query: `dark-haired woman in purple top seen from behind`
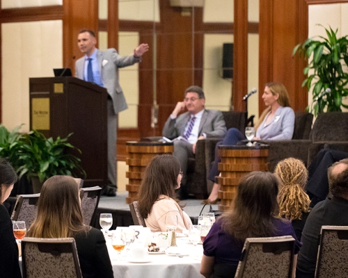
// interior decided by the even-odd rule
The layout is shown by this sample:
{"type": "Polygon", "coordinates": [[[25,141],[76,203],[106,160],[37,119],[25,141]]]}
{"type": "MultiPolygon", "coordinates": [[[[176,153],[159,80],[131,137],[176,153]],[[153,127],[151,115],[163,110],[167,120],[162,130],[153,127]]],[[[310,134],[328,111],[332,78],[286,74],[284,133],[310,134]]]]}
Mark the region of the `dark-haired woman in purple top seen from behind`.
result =
{"type": "MultiPolygon", "coordinates": [[[[212,226],[203,242],[200,273],[205,277],[235,277],[246,238],[293,236],[292,224],[278,214],[278,179],[269,172],[242,177],[230,211],[212,226]]],[[[295,254],[301,243],[296,240],[295,254]]],[[[295,256],[296,261],[296,256],[295,256]]]]}

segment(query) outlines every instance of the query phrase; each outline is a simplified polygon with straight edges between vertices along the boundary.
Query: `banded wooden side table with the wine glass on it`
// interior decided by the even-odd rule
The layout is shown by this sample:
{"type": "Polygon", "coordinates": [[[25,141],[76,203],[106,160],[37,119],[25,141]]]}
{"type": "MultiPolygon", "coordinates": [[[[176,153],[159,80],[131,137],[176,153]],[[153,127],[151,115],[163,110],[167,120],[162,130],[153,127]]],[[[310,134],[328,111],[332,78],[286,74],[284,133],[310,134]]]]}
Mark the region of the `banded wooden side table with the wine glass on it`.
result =
{"type": "Polygon", "coordinates": [[[220,210],[228,210],[235,197],[239,179],[248,172],[267,171],[267,156],[269,145],[247,147],[244,145],[218,147],[221,157],[219,171],[221,177],[216,177],[216,182],[221,185],[219,190],[220,210]]]}

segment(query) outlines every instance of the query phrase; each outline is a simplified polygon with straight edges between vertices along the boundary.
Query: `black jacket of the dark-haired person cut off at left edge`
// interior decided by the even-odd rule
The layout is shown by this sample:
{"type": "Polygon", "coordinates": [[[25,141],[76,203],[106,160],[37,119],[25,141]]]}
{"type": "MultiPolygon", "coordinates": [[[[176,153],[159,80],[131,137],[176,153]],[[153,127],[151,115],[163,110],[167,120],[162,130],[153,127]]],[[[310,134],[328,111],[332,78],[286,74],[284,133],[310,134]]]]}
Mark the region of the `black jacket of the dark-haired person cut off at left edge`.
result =
{"type": "Polygon", "coordinates": [[[2,204],[0,204],[0,277],[22,277],[12,221],[2,204]]]}

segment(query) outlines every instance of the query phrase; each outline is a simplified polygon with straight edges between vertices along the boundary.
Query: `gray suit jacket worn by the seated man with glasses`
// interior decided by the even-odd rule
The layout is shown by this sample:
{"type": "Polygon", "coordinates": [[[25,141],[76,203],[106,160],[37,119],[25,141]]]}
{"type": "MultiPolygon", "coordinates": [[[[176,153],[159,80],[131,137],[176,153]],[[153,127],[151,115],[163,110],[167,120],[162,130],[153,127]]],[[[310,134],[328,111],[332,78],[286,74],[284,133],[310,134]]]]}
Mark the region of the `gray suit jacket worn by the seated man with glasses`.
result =
{"type": "MultiPolygon", "coordinates": [[[[189,122],[189,117],[189,112],[183,113],[173,120],[171,117],[168,117],[166,124],[164,124],[162,135],[169,139],[182,136],[187,122],[189,122]]],[[[225,120],[223,120],[221,111],[204,111],[202,119],[200,120],[198,137],[203,133],[207,135],[207,138],[223,138],[223,136],[225,136],[226,123],[225,120]]]]}

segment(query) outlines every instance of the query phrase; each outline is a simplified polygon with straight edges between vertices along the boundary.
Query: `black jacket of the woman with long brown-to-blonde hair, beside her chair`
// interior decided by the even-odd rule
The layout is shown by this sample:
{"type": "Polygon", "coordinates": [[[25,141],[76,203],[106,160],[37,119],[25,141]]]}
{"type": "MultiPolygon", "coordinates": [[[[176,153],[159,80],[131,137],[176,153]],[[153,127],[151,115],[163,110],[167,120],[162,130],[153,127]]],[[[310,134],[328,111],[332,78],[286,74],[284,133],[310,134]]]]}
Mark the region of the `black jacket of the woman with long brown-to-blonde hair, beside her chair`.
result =
{"type": "Polygon", "coordinates": [[[92,228],[88,234],[75,237],[77,253],[84,278],[113,278],[113,270],[102,231],[92,228]]]}

